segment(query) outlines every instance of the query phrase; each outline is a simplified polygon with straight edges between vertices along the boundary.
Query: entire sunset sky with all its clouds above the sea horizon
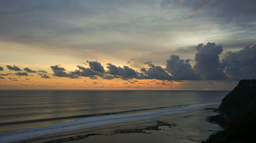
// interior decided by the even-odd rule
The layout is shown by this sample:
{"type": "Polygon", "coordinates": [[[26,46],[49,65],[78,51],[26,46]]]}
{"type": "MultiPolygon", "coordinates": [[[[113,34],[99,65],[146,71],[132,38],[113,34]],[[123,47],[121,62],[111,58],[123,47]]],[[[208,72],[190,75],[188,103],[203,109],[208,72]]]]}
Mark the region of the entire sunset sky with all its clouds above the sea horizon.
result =
{"type": "Polygon", "coordinates": [[[0,89],[232,90],[256,1],[1,1],[0,89]]]}

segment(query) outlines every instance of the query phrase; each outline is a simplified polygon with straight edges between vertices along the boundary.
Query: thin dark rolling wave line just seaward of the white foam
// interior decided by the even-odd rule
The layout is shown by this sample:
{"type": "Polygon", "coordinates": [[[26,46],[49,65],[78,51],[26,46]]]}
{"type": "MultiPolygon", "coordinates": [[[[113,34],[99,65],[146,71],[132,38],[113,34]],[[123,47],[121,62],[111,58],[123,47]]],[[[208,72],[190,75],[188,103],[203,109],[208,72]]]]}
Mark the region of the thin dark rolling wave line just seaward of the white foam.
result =
{"type": "Polygon", "coordinates": [[[63,120],[63,119],[76,119],[76,118],[88,118],[88,117],[95,117],[95,116],[117,115],[117,114],[121,114],[121,113],[164,109],[164,108],[170,108],[170,107],[181,107],[181,106],[188,106],[188,105],[191,105],[191,104],[165,106],[165,107],[157,107],[157,108],[144,108],[144,109],[137,109],[137,110],[126,110],[126,111],[108,112],[108,113],[96,113],[96,114],[90,114],[90,115],[78,115],[78,116],[59,117],[59,118],[47,118],[47,119],[26,120],[26,121],[16,121],[16,122],[2,122],[2,123],[0,122],[0,126],[22,124],[22,123],[44,122],[44,121],[56,121],[56,120],[63,120]]]}

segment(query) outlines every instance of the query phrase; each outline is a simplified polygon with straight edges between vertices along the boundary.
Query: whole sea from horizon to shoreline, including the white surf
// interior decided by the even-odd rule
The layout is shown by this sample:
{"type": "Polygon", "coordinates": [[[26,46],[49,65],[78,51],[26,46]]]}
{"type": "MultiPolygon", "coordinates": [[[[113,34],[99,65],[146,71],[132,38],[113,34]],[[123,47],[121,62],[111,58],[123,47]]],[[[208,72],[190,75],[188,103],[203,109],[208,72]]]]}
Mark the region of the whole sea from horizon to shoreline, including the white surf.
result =
{"type": "Polygon", "coordinates": [[[0,140],[155,119],[218,105],[229,91],[0,90],[0,140]]]}

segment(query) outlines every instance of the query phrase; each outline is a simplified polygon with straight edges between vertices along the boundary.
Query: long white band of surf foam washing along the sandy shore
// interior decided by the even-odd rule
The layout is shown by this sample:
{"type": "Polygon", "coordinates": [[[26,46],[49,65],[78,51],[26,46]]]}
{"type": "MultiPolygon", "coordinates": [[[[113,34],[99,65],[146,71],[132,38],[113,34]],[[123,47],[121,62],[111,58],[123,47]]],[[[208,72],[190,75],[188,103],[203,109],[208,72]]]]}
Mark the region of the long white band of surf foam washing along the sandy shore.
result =
{"type": "Polygon", "coordinates": [[[81,129],[150,120],[150,119],[155,119],[165,115],[174,115],[177,113],[184,113],[194,108],[200,108],[204,106],[217,105],[217,104],[220,104],[220,102],[207,102],[202,104],[193,104],[183,108],[177,108],[172,110],[159,110],[159,111],[152,111],[152,112],[131,113],[131,114],[125,114],[125,115],[110,115],[110,116],[102,116],[102,117],[89,117],[89,118],[79,119],[76,121],[49,125],[45,127],[0,133],[0,140],[2,143],[9,143],[9,142],[15,142],[20,140],[32,139],[40,136],[71,132],[71,131],[76,131],[81,129]]]}

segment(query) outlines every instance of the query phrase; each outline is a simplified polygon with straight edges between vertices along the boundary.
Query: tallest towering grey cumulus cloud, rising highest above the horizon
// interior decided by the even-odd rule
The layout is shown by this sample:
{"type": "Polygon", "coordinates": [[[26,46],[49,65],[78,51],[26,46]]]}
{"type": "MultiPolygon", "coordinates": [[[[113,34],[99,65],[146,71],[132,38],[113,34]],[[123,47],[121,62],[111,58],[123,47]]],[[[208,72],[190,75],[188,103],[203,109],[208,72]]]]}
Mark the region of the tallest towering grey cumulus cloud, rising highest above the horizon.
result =
{"type": "Polygon", "coordinates": [[[199,44],[195,47],[197,50],[194,66],[194,72],[199,74],[205,80],[224,80],[227,79],[224,71],[224,65],[220,63],[219,54],[222,53],[222,46],[216,46],[215,43],[208,42],[206,45],[199,44]]]}

